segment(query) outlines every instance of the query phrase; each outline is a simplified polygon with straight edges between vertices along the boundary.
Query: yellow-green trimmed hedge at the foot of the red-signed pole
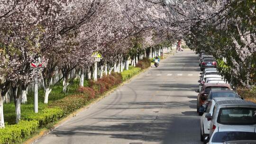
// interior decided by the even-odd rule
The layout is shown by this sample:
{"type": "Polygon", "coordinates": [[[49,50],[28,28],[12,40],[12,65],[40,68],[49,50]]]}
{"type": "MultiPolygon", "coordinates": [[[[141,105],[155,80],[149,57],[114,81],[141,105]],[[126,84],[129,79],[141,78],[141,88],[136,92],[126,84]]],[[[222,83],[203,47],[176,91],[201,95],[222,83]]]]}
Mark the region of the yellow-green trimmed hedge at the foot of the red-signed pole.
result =
{"type": "Polygon", "coordinates": [[[38,121],[40,127],[43,127],[51,122],[57,121],[64,116],[64,110],[61,108],[46,108],[40,113],[24,114],[21,119],[27,121],[38,121]]]}

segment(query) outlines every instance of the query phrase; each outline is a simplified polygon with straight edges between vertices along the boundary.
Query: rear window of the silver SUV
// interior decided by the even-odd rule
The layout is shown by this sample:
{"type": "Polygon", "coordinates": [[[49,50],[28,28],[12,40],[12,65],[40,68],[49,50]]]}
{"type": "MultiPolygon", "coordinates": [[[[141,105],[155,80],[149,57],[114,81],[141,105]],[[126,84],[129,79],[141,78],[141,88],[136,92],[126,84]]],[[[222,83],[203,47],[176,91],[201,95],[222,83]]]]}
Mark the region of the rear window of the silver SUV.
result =
{"type": "Polygon", "coordinates": [[[255,125],[256,108],[220,108],[217,122],[223,125],[255,125]]]}

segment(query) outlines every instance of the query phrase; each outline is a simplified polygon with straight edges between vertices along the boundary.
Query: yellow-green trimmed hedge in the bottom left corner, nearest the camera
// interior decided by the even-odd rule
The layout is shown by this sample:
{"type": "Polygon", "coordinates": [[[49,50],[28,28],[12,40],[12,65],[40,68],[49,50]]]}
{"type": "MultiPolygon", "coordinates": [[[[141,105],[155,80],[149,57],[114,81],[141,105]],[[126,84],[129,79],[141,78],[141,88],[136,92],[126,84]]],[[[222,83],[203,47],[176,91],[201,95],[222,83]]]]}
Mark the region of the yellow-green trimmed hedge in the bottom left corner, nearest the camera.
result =
{"type": "Polygon", "coordinates": [[[25,139],[35,133],[38,129],[39,123],[33,121],[19,121],[17,125],[7,125],[0,129],[0,144],[16,144],[21,143],[25,139]]]}

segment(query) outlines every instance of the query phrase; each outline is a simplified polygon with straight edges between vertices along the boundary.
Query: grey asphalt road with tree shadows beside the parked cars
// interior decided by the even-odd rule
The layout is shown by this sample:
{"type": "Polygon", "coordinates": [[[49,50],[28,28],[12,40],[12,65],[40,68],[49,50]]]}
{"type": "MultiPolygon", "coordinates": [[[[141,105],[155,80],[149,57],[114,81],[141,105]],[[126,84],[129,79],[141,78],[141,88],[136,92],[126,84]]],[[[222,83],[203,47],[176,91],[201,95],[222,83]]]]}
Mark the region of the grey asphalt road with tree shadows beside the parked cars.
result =
{"type": "Polygon", "coordinates": [[[37,144],[201,144],[197,55],[175,53],[37,144]]]}

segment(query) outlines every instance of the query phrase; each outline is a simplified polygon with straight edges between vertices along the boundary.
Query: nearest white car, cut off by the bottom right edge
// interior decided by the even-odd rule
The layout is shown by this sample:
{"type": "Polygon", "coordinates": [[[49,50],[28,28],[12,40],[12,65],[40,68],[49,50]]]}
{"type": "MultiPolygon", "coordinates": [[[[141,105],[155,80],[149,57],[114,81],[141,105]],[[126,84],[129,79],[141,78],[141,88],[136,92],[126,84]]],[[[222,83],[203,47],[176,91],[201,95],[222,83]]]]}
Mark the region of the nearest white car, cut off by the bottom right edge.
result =
{"type": "MultiPolygon", "coordinates": [[[[212,136],[206,137],[207,144],[223,144],[228,141],[256,140],[255,126],[219,126],[212,136]]],[[[240,143],[251,144],[251,143],[240,143]]]]}

